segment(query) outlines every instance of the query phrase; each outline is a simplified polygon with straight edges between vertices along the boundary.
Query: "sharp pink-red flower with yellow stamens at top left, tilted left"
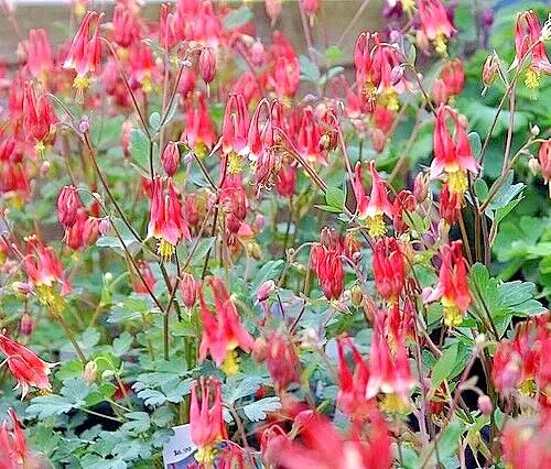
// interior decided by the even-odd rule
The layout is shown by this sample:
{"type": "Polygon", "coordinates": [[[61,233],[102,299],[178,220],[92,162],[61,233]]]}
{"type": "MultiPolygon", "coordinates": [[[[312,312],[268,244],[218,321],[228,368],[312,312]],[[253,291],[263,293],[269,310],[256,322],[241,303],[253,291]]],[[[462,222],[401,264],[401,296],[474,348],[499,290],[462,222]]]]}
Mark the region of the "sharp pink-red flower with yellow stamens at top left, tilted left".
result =
{"type": "Polygon", "coordinates": [[[76,77],[73,87],[80,95],[91,84],[91,75],[99,73],[101,66],[101,40],[99,37],[99,25],[104,13],[87,11],[78,31],[73,39],[64,68],[73,68],[76,77]],[[94,32],[90,35],[90,31],[94,32]]]}

